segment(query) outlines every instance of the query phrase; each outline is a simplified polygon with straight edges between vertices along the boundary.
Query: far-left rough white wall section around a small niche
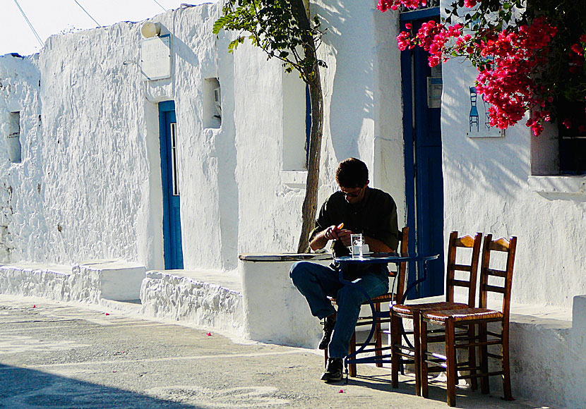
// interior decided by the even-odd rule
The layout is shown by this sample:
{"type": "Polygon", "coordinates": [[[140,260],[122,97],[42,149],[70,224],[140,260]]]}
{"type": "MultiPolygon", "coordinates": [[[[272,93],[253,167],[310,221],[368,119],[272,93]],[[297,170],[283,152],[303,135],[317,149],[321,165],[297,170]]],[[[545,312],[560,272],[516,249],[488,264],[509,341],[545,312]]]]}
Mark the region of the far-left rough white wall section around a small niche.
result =
{"type": "Polygon", "coordinates": [[[0,56],[0,262],[21,257],[35,231],[44,230],[40,212],[40,105],[38,54],[0,56]],[[8,118],[20,112],[21,162],[8,157],[8,118]]]}

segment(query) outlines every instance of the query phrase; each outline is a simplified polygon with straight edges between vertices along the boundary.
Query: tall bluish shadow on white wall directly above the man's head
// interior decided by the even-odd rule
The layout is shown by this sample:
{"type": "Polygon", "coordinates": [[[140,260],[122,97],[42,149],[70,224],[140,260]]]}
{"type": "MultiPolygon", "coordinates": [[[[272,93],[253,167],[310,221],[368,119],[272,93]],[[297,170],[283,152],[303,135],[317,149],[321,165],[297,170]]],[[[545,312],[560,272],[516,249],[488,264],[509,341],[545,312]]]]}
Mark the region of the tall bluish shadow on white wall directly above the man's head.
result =
{"type": "MultiPolygon", "coordinates": [[[[354,3],[353,3],[354,4],[354,3]]],[[[366,119],[373,119],[373,55],[368,38],[370,30],[363,25],[369,20],[364,16],[372,13],[369,1],[356,2],[353,11],[342,2],[335,1],[328,8],[313,5],[321,18],[322,28],[328,29],[323,42],[333,54],[335,70],[330,103],[330,133],[335,155],[338,158],[359,156],[359,135],[366,119]],[[342,33],[344,33],[342,39],[342,33]]]]}

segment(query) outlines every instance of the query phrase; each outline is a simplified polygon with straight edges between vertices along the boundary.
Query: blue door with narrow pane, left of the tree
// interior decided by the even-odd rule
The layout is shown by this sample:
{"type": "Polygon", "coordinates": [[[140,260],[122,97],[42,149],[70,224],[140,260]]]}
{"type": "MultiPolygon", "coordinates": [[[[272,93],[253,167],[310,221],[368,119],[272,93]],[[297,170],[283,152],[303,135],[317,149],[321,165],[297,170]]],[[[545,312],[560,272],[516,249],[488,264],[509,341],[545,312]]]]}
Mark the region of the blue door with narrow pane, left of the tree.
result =
{"type": "Polygon", "coordinates": [[[183,269],[175,103],[159,103],[165,269],[183,269]]]}

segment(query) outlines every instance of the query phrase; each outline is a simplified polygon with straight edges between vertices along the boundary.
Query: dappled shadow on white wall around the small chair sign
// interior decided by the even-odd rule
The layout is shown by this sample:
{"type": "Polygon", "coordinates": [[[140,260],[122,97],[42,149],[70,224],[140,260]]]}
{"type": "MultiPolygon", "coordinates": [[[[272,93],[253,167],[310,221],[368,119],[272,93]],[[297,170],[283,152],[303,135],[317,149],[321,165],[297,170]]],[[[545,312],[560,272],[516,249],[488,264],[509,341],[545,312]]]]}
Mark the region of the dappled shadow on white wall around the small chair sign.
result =
{"type": "Polygon", "coordinates": [[[525,128],[525,121],[520,121],[515,128],[505,131],[505,138],[469,138],[470,83],[474,83],[474,77],[467,79],[466,75],[457,80],[444,78],[444,181],[457,180],[471,190],[515,197],[527,189],[527,176],[531,174],[530,130],[525,128]]]}

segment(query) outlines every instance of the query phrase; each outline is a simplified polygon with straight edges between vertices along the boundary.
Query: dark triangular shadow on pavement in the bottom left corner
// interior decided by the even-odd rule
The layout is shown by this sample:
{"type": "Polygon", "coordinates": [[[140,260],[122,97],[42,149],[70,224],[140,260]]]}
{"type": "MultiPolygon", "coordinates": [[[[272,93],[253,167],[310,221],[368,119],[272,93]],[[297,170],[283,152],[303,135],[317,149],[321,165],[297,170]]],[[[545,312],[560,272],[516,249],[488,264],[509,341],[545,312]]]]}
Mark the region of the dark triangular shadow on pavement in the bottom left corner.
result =
{"type": "Polygon", "coordinates": [[[141,394],[8,365],[0,365],[0,379],[2,408],[201,409],[201,406],[170,401],[163,396],[186,400],[190,396],[196,398],[199,392],[201,400],[208,399],[205,396],[207,390],[199,386],[193,386],[193,390],[188,390],[189,386],[183,386],[183,389],[162,386],[148,389],[149,394],[141,394]]]}

